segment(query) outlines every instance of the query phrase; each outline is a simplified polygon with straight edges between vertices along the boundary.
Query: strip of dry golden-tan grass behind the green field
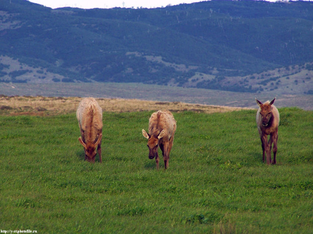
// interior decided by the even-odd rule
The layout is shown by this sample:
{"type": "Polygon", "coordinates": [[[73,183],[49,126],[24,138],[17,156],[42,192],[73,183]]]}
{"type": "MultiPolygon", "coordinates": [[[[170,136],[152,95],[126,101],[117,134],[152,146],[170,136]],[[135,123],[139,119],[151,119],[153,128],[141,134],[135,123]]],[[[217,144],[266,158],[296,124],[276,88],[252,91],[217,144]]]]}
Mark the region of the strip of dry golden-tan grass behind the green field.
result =
{"type": "MultiPolygon", "coordinates": [[[[82,98],[42,96],[2,96],[0,115],[60,115],[76,112],[82,98]]],[[[137,99],[96,99],[104,112],[141,112],[170,110],[172,112],[192,111],[198,113],[231,112],[242,108],[187,104],[181,102],[155,102],[137,99]]]]}

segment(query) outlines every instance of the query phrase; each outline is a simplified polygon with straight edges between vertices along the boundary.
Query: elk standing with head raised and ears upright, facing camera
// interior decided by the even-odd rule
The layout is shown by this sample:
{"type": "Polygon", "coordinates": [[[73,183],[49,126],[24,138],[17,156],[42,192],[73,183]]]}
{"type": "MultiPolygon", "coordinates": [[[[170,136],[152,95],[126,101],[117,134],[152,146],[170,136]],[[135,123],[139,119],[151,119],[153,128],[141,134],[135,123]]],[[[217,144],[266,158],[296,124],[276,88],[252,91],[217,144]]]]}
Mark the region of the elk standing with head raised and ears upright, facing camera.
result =
{"type": "Polygon", "coordinates": [[[256,99],[256,102],[260,107],[257,112],[256,120],[257,120],[258,130],[259,130],[259,134],[260,134],[260,138],[262,142],[263,162],[264,162],[264,155],[266,153],[267,164],[270,164],[270,163],[276,164],[278,125],[280,123],[280,114],[277,108],[273,105],[275,99],[273,99],[271,102],[267,101],[264,104],[256,99]],[[269,141],[268,141],[268,135],[270,135],[269,141]],[[273,145],[274,159],[272,161],[271,150],[272,150],[273,142],[274,142],[274,145],[273,145]]]}

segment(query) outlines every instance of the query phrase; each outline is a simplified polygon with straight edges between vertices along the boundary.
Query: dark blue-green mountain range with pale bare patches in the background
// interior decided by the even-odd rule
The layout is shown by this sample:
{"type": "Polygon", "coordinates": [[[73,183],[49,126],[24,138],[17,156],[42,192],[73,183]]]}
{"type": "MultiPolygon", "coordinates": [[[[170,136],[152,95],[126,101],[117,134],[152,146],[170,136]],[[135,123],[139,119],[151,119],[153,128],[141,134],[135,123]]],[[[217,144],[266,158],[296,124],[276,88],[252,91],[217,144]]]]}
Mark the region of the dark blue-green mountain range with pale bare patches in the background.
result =
{"type": "Polygon", "coordinates": [[[1,82],[239,92],[303,83],[301,92],[312,94],[312,78],[312,1],[211,0],[153,9],[0,1],[1,82]]]}

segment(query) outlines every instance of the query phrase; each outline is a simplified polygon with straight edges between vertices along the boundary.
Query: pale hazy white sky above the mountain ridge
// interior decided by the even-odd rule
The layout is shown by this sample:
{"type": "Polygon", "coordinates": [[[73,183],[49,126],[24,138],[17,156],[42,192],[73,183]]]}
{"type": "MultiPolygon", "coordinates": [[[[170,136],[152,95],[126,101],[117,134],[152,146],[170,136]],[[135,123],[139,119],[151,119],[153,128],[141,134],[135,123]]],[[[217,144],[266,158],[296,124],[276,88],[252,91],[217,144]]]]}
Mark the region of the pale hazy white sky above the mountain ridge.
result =
{"type": "Polygon", "coordinates": [[[78,8],[112,8],[112,7],[161,7],[168,4],[177,5],[180,3],[192,3],[201,0],[29,0],[51,8],[64,6],[78,8]]]}

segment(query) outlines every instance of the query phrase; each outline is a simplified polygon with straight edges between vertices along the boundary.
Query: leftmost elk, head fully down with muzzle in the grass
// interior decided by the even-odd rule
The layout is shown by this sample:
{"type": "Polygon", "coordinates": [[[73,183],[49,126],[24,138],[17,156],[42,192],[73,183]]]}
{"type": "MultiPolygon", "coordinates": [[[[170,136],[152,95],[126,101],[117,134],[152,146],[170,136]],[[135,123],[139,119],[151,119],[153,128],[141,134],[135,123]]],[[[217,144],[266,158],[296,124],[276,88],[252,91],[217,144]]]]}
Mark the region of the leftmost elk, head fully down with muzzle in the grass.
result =
{"type": "Polygon", "coordinates": [[[79,142],[84,146],[85,160],[94,162],[97,154],[96,147],[101,160],[101,138],[102,138],[102,109],[94,98],[83,99],[76,111],[79,123],[79,142]]]}

